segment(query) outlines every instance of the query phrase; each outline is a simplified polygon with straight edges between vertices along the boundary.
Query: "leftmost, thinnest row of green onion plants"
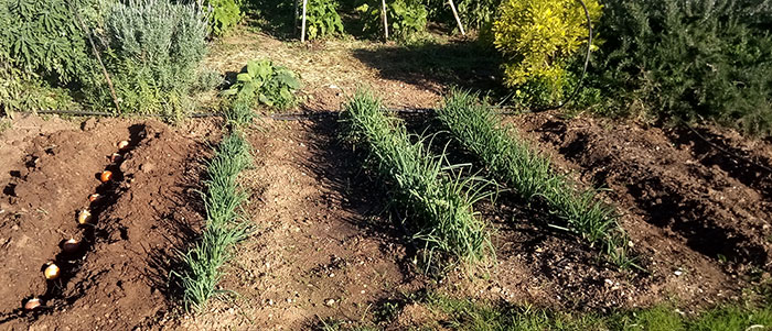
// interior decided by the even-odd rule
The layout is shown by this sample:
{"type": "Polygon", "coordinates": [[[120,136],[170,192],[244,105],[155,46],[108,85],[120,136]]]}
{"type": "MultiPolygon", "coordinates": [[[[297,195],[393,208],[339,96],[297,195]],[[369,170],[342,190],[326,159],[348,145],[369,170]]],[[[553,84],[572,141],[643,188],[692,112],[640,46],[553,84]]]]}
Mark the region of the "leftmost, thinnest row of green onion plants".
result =
{"type": "Polygon", "coordinates": [[[250,164],[249,145],[238,132],[226,135],[206,164],[204,229],[195,246],[183,255],[184,268],[175,273],[189,310],[202,310],[212,296],[221,293],[216,286],[223,276],[223,266],[230,258],[234,244],[250,232],[239,213],[239,206],[247,196],[237,184],[238,174],[250,164]]]}

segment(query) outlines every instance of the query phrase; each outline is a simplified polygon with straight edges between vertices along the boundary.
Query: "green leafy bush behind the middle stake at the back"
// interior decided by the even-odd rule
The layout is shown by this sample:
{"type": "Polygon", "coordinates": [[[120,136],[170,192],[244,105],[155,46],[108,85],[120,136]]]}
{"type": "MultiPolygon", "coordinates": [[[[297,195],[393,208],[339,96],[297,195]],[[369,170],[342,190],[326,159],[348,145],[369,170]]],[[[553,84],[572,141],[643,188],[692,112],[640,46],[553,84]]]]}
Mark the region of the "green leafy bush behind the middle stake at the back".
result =
{"type": "MultiPolygon", "coordinates": [[[[409,42],[426,31],[428,12],[420,0],[387,1],[389,36],[400,42],[409,42]]],[[[372,34],[383,34],[380,1],[369,1],[356,8],[365,20],[364,29],[372,34]]]]}

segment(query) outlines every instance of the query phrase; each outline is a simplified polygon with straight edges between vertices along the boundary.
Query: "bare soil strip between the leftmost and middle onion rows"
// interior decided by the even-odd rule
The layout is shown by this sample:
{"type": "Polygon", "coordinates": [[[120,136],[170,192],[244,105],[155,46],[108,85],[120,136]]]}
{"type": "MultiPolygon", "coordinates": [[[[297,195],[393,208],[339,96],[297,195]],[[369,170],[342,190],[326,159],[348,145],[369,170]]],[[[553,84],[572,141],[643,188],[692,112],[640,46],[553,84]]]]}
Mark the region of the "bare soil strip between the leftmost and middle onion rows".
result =
{"type": "Polygon", "coordinates": [[[336,143],[337,123],[266,122],[249,134],[256,166],[242,176],[256,234],[223,282],[238,293],[181,329],[300,330],[360,320],[371,305],[420,286],[400,239],[377,217],[380,189],[336,143]]]}

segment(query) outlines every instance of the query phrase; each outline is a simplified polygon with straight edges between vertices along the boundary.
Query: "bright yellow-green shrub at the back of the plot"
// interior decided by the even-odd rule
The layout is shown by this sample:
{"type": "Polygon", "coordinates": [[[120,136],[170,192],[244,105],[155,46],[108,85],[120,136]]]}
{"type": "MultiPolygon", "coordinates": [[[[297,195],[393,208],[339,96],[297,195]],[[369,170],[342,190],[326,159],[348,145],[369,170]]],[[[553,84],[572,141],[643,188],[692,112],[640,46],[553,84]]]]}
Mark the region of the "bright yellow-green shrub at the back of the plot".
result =
{"type": "MultiPolygon", "coordinates": [[[[585,1],[597,22],[602,7],[585,1]]],[[[493,23],[494,45],[506,58],[508,87],[546,89],[548,99],[567,86],[566,66],[587,41],[587,18],[577,0],[504,0],[493,23]]]]}

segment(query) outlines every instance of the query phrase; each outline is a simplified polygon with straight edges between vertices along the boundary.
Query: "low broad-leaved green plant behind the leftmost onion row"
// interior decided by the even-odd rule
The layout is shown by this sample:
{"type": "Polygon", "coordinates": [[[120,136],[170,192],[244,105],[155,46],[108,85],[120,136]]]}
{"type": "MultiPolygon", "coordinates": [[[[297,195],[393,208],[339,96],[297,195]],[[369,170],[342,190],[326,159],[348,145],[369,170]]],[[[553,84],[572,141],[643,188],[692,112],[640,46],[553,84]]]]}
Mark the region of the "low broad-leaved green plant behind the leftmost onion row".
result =
{"type": "Polygon", "coordinates": [[[226,117],[248,122],[256,102],[277,109],[290,108],[297,103],[294,92],[299,88],[300,80],[292,70],[275,66],[268,59],[249,60],[236,76],[236,82],[223,92],[235,98],[226,117]]]}

